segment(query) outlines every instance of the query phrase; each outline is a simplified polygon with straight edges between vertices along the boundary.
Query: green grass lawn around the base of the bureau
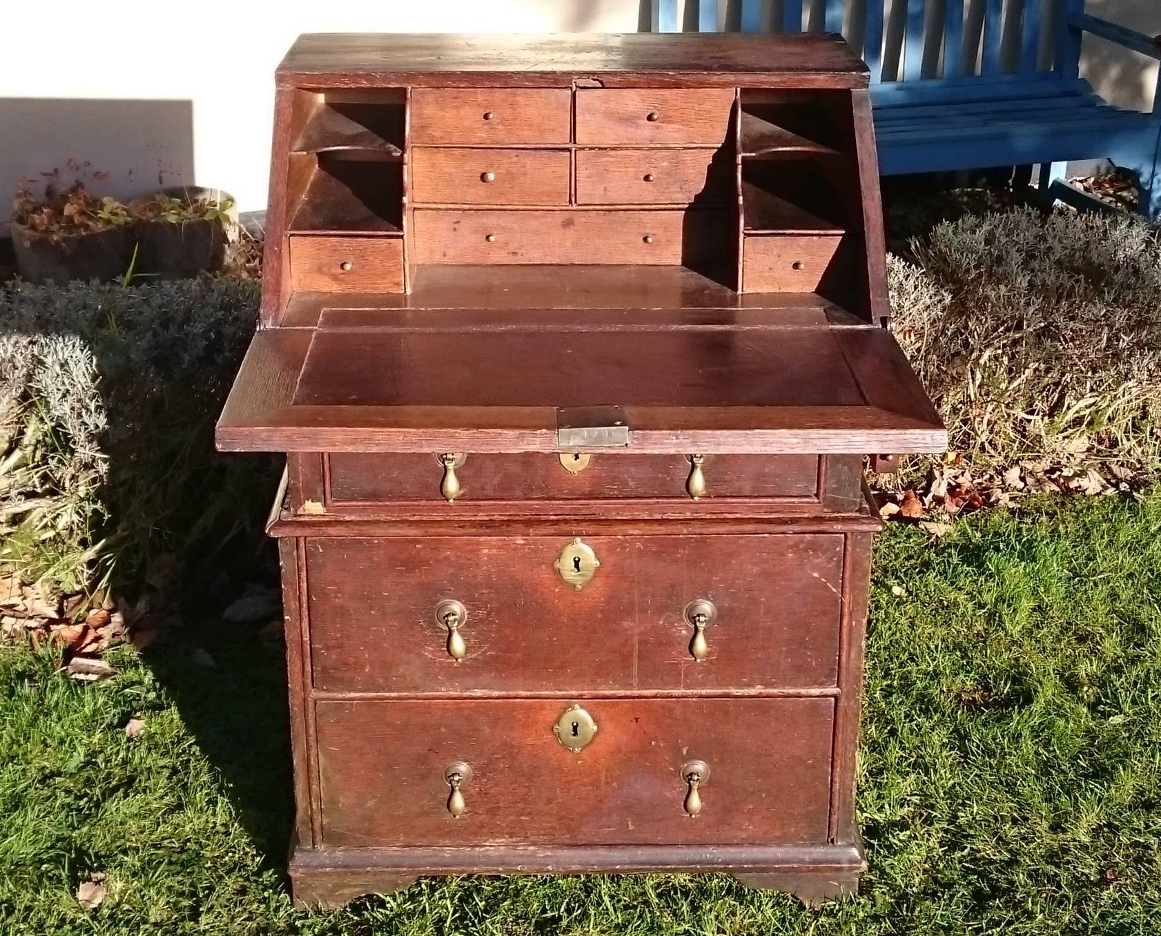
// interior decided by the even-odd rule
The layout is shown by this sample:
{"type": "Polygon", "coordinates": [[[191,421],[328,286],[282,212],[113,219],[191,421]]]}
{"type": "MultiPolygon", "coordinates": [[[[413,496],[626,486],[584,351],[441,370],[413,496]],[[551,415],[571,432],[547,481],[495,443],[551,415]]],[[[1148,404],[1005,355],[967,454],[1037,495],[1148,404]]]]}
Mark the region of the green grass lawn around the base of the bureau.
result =
{"type": "Polygon", "coordinates": [[[939,541],[895,526],[877,561],[854,900],[807,910],[721,876],[466,878],[296,910],[281,647],[207,626],[215,667],[188,642],[120,648],[95,684],[0,649],[0,933],[1158,931],[1161,495],[990,512],[939,541]],[[93,872],[108,897],[86,912],[93,872]]]}

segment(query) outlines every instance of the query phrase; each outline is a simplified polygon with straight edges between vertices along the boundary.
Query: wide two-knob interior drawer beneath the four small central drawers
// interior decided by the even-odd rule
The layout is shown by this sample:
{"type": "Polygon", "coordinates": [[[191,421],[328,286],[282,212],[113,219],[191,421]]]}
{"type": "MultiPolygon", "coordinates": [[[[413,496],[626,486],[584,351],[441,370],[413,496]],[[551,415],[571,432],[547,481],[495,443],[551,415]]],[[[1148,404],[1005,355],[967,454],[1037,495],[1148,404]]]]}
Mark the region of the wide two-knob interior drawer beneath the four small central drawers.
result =
{"type": "Polygon", "coordinates": [[[420,264],[701,264],[720,251],[724,211],[417,209],[420,264]],[[695,217],[687,217],[697,211],[695,217]]]}

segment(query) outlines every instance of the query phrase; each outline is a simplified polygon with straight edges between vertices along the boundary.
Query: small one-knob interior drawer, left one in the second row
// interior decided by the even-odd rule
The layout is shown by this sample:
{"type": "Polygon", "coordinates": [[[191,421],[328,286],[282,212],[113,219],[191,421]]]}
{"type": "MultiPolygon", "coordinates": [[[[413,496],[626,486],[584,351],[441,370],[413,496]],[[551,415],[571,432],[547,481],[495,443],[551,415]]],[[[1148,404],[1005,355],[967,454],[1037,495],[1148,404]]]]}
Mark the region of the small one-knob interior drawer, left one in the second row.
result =
{"type": "Polygon", "coordinates": [[[563,150],[431,149],[411,151],[414,202],[568,204],[563,150]]]}

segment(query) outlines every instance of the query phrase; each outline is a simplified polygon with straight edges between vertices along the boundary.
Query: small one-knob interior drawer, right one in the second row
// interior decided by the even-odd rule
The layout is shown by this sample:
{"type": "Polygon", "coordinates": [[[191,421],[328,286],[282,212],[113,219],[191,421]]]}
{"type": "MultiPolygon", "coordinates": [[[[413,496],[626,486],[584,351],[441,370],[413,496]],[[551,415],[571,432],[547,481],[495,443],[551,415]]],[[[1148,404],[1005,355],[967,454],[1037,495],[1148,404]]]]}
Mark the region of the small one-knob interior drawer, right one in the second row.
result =
{"type": "Polygon", "coordinates": [[[578,150],[580,204],[723,202],[733,163],[711,150],[578,150]]]}

